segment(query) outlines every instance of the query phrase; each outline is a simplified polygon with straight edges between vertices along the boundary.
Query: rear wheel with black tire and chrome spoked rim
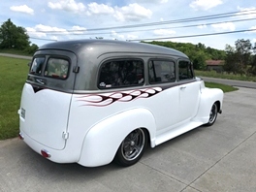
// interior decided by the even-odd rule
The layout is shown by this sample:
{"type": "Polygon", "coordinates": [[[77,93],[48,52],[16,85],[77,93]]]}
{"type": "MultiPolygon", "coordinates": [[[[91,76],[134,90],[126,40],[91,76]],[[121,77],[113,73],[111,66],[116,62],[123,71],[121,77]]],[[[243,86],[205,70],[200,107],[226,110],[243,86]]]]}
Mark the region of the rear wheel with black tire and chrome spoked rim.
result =
{"type": "Polygon", "coordinates": [[[132,131],[120,144],[114,161],[123,167],[136,164],[142,158],[146,144],[147,135],[142,128],[132,131]]]}

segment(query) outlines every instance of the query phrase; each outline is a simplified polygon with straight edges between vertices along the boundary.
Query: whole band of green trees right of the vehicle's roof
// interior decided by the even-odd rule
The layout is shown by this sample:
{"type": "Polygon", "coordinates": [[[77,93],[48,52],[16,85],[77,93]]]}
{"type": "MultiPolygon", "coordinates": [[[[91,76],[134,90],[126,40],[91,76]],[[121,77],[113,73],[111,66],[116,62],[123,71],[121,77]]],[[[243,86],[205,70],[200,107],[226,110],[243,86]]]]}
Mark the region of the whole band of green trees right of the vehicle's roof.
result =
{"type": "Polygon", "coordinates": [[[235,48],[226,45],[225,50],[206,48],[201,43],[198,45],[156,41],[144,43],[175,48],[184,52],[193,62],[196,70],[205,70],[206,60],[225,60],[223,69],[228,74],[240,75],[241,79],[256,76],[256,43],[253,47],[249,40],[239,39],[235,42],[235,48]]]}

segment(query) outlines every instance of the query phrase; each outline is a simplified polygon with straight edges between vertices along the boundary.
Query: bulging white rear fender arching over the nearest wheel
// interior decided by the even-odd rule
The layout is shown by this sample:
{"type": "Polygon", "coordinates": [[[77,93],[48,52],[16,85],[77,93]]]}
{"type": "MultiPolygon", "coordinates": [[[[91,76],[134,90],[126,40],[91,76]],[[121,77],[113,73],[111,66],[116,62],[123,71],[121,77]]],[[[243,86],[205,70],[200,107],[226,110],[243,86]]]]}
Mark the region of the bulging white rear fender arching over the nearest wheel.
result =
{"type": "Polygon", "coordinates": [[[154,146],[156,127],[153,114],[146,109],[132,109],[94,125],[83,140],[78,163],[86,167],[111,163],[121,142],[137,128],[148,130],[151,146],[154,146]]]}

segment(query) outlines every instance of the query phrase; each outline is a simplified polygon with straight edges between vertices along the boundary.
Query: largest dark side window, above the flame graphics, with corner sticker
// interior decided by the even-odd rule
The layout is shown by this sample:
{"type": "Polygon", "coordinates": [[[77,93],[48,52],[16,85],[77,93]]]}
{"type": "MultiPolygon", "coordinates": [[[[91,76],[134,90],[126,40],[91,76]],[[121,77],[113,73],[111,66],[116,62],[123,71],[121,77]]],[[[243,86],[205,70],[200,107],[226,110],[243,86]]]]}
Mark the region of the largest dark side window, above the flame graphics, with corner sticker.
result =
{"type": "Polygon", "coordinates": [[[144,84],[144,62],[141,60],[112,60],[100,68],[99,88],[136,86],[144,84]]]}

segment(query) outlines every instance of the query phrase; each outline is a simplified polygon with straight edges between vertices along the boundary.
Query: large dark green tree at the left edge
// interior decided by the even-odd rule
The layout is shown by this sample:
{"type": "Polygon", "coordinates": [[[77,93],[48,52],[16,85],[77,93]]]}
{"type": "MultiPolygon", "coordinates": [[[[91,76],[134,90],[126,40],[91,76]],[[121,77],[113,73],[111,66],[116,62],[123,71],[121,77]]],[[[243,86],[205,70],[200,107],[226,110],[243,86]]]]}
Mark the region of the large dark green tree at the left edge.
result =
{"type": "Polygon", "coordinates": [[[0,48],[29,48],[29,37],[23,27],[16,26],[9,18],[0,27],[0,48]]]}

